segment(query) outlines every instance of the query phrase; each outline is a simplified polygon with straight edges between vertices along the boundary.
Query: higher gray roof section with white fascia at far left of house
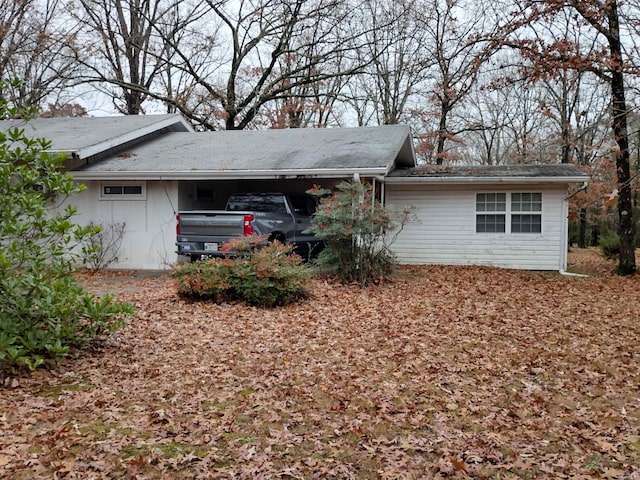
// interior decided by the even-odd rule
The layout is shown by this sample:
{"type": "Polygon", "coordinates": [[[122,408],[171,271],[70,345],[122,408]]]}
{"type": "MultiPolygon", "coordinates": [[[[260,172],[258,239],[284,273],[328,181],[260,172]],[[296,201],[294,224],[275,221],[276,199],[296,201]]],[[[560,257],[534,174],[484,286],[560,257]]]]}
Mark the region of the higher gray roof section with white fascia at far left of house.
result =
{"type": "Polygon", "coordinates": [[[50,152],[89,158],[161,132],[193,132],[179,114],[110,117],[56,117],[0,121],[0,131],[24,128],[30,138],[51,142],[50,152]]]}

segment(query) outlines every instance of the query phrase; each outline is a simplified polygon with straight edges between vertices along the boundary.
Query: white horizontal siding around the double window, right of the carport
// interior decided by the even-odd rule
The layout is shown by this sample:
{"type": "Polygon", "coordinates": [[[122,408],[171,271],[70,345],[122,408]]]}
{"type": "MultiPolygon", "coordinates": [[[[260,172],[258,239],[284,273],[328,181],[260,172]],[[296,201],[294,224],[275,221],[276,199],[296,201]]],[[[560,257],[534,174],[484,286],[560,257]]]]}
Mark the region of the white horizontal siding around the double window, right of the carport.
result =
{"type": "Polygon", "coordinates": [[[387,185],[387,205],[413,205],[418,220],[404,227],[392,251],[404,264],[564,269],[566,195],[566,185],[387,185]],[[542,233],[476,233],[476,193],[483,192],[542,192],[542,233]]]}

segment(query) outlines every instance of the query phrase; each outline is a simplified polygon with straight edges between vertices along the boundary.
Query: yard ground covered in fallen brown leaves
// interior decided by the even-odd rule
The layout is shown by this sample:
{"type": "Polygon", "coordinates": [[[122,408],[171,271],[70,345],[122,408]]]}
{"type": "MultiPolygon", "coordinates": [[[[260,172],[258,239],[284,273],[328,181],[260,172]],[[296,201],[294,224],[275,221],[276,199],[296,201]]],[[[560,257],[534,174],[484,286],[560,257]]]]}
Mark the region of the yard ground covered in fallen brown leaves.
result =
{"type": "Polygon", "coordinates": [[[597,276],[403,268],[275,310],[87,278],[137,316],[0,390],[0,477],[640,478],[640,279],[570,261],[597,276]]]}

